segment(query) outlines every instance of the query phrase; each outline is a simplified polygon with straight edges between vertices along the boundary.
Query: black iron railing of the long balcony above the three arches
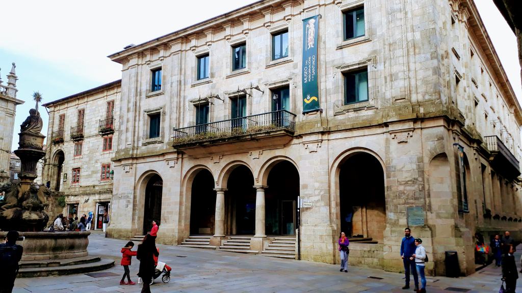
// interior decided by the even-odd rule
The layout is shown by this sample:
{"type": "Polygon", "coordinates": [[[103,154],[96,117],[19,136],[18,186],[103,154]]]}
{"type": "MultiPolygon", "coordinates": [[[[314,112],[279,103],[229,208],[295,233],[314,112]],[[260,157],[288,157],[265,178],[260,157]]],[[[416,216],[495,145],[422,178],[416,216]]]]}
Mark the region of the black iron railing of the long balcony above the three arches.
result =
{"type": "Polygon", "coordinates": [[[295,114],[279,110],[174,129],[174,146],[211,140],[227,140],[276,130],[295,131],[295,114]]]}

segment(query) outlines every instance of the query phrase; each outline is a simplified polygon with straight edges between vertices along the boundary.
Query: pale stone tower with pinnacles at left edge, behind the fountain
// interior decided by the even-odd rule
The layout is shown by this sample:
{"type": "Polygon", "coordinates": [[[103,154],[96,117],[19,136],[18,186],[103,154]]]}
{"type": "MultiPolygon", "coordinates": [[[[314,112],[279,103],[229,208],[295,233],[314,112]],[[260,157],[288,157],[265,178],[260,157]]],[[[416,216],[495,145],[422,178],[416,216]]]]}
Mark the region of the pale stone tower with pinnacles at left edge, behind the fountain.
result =
{"type": "Polygon", "coordinates": [[[11,71],[7,75],[7,84],[0,76],[0,184],[9,181],[9,161],[11,145],[13,144],[13,131],[15,127],[16,106],[23,101],[16,99],[16,65],[13,63],[11,71]]]}

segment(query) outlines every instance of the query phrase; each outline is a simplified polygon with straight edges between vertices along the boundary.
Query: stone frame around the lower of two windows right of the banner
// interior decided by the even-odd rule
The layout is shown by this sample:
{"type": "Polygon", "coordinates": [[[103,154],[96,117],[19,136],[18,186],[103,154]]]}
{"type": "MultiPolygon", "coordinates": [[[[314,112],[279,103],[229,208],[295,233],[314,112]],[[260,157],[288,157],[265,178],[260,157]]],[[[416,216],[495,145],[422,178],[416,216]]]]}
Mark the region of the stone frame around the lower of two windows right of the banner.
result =
{"type": "Polygon", "coordinates": [[[376,57],[368,57],[356,62],[341,64],[335,66],[335,100],[334,100],[334,115],[344,114],[363,109],[375,109],[378,107],[375,96],[375,70],[376,57]],[[368,72],[368,100],[358,103],[351,103],[345,105],[345,74],[351,71],[361,70],[367,68],[368,72]]]}

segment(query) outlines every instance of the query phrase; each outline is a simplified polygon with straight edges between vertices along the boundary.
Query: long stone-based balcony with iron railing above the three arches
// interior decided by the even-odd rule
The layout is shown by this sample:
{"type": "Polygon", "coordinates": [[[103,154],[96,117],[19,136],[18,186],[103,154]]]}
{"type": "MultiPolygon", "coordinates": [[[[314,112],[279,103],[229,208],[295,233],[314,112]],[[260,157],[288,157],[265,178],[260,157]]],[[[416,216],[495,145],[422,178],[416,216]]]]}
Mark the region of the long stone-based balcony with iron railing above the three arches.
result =
{"type": "Polygon", "coordinates": [[[234,149],[259,149],[287,144],[294,132],[295,114],[279,110],[177,128],[172,145],[189,155],[223,151],[223,145],[231,144],[234,149]]]}

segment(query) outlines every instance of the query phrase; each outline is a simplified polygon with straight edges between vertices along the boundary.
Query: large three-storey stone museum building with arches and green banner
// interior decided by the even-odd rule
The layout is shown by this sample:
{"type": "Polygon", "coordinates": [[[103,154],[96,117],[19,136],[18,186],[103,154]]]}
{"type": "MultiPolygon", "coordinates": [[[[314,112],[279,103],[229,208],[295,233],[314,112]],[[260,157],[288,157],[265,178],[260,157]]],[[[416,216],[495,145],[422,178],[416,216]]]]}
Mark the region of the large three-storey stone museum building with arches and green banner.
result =
{"type": "Polygon", "coordinates": [[[446,251],[474,272],[477,231],[520,236],[522,112],[471,0],[259,1],[109,57],[108,236],[159,219],[160,243],[247,235],[263,251],[299,227],[301,259],[337,263],[345,231],[365,239],[350,263],[401,271],[411,226],[436,275],[446,251]]]}

